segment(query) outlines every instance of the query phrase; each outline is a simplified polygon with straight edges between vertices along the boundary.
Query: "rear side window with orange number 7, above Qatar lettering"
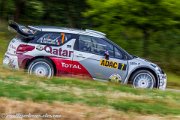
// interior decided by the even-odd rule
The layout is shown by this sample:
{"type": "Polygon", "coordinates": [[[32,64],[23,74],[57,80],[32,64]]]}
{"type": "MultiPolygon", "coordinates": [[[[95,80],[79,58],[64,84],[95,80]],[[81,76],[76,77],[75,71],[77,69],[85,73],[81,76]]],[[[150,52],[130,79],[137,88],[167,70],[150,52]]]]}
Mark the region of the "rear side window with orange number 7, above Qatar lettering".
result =
{"type": "Polygon", "coordinates": [[[45,33],[36,43],[60,46],[70,39],[72,39],[72,35],[68,33],[45,33]]]}

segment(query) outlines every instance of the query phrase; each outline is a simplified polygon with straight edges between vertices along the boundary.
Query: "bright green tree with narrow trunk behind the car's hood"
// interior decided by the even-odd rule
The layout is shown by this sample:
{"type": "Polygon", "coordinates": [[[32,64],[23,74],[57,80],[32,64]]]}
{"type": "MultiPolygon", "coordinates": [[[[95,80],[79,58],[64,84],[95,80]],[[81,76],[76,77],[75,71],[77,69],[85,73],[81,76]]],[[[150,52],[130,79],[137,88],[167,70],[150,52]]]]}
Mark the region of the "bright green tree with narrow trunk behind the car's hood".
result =
{"type": "Polygon", "coordinates": [[[92,17],[98,27],[109,32],[138,30],[142,34],[144,57],[149,55],[152,34],[180,25],[180,2],[176,0],[88,0],[88,3],[91,8],[85,15],[92,17]],[[114,27],[109,29],[112,24],[114,27]]]}

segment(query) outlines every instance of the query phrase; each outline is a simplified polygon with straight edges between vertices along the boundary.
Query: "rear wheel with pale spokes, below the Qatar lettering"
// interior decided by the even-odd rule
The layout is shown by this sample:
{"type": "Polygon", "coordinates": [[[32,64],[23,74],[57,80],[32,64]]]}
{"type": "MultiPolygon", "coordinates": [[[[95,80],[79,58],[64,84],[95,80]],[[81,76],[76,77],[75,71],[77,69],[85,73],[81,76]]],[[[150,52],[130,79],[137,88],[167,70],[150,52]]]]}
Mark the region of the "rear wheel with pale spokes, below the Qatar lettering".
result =
{"type": "Polygon", "coordinates": [[[54,76],[54,69],[51,62],[46,59],[35,59],[28,66],[28,73],[34,74],[40,77],[51,78],[54,76]]]}

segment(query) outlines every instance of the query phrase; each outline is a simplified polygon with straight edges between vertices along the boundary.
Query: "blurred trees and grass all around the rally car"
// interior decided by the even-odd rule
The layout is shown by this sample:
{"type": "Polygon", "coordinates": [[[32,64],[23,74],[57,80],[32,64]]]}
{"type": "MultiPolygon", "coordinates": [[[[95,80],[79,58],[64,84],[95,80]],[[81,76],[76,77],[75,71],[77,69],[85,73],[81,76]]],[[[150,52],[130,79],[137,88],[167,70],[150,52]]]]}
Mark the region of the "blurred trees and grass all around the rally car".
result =
{"type": "Polygon", "coordinates": [[[179,90],[180,0],[0,0],[0,118],[48,113],[62,115],[61,120],[180,120],[179,90]],[[163,68],[168,89],[49,80],[6,69],[2,60],[15,36],[7,29],[8,20],[104,32],[130,54],[163,68]]]}

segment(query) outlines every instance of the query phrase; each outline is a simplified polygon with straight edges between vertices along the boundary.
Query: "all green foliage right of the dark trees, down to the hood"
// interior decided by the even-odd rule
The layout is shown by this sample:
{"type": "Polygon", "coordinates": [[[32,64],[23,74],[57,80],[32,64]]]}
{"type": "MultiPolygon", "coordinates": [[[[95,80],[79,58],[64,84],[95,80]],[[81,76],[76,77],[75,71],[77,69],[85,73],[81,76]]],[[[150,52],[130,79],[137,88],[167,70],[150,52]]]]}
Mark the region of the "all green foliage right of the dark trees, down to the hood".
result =
{"type": "Polygon", "coordinates": [[[179,1],[88,0],[88,4],[91,8],[84,15],[96,29],[130,52],[179,73],[179,1]]]}

